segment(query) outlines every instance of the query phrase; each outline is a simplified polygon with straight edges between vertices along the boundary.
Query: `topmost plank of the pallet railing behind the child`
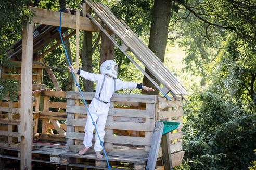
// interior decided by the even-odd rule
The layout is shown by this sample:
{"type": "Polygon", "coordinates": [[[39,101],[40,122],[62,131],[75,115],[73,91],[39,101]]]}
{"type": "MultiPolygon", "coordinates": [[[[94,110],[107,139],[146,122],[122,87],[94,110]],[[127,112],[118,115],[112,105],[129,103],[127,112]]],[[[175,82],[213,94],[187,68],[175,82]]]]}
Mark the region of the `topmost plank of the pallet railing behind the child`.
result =
{"type": "MultiPolygon", "coordinates": [[[[82,92],[85,100],[92,100],[95,96],[95,92],[82,92]]],[[[82,99],[79,92],[67,92],[66,98],[82,99]]],[[[122,101],[122,102],[140,102],[140,103],[156,103],[154,95],[146,94],[121,94],[115,93],[111,98],[111,101],[122,101]]]]}

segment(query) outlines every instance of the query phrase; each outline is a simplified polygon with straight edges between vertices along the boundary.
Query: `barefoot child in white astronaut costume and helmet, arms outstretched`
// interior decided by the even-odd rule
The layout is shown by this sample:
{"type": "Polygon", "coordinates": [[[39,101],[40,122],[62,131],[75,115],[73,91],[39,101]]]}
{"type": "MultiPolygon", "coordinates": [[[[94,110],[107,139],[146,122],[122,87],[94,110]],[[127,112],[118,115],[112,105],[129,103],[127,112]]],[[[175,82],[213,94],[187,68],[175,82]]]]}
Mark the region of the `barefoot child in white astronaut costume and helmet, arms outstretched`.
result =
{"type": "MultiPolygon", "coordinates": [[[[106,60],[100,66],[101,74],[88,73],[83,70],[73,69],[72,66],[68,66],[69,71],[78,74],[85,78],[86,80],[96,81],[96,93],[93,98],[91,104],[89,105],[89,111],[92,115],[93,120],[96,122],[96,128],[99,133],[100,140],[103,141],[105,135],[105,124],[108,117],[108,111],[110,106],[110,99],[115,91],[121,89],[144,89],[147,91],[154,91],[152,88],[148,88],[146,86],[142,86],[142,83],[137,84],[135,82],[124,82],[117,79],[117,64],[113,60],[106,60]]],[[[79,154],[85,154],[89,147],[92,146],[92,138],[93,138],[94,125],[92,124],[91,117],[87,117],[87,122],[84,127],[84,141],[83,144],[85,146],[84,149],[79,151],[79,154]]],[[[96,152],[97,158],[103,158],[103,155],[100,154],[102,150],[102,146],[100,145],[100,140],[95,135],[95,144],[94,150],[96,152]]]]}

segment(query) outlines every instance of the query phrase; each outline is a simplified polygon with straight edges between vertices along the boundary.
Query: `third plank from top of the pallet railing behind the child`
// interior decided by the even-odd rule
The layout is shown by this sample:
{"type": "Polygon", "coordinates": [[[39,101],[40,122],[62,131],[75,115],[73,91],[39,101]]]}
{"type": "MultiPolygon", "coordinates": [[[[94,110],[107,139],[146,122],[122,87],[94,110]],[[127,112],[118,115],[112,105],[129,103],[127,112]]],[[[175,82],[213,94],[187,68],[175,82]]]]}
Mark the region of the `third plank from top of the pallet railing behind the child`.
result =
{"type": "MultiPolygon", "coordinates": [[[[66,124],[69,126],[84,127],[87,119],[68,119],[66,124]]],[[[120,130],[133,130],[133,131],[149,131],[154,130],[154,124],[146,123],[132,123],[132,122],[113,122],[107,120],[105,129],[120,129],[120,130]]]]}

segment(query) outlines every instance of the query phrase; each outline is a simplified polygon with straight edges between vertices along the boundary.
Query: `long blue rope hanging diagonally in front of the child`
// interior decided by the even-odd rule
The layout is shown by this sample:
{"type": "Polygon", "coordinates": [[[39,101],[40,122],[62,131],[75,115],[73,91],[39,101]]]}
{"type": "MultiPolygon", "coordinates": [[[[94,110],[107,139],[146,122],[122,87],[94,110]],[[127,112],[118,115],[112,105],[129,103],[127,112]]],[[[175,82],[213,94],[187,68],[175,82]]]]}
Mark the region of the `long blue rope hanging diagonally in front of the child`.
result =
{"type": "MultiPolygon", "coordinates": [[[[61,36],[61,11],[59,11],[59,12],[60,12],[60,23],[59,23],[59,27],[57,27],[57,30],[59,31],[60,39],[61,39],[61,42],[62,42],[62,45],[63,45],[64,51],[65,51],[65,55],[66,55],[66,58],[67,58],[67,60],[68,60],[69,66],[71,66],[71,65],[70,65],[70,62],[69,62],[68,55],[67,55],[67,51],[66,51],[66,49],[65,49],[65,46],[64,46],[64,43],[63,43],[63,40],[62,40],[62,36],[61,36]]],[[[76,35],[76,36],[77,36],[77,35],[76,35]]],[[[76,43],[78,43],[78,42],[76,42],[76,43]]],[[[84,101],[84,105],[86,106],[86,108],[87,108],[87,110],[88,110],[89,116],[90,116],[90,117],[91,117],[91,119],[92,119],[93,125],[94,125],[94,127],[95,127],[96,133],[97,133],[98,138],[99,138],[99,141],[100,141],[100,145],[101,145],[101,146],[102,146],[102,148],[103,148],[103,151],[104,151],[104,154],[105,154],[105,158],[106,158],[106,161],[107,161],[107,163],[108,163],[108,169],[110,170],[110,169],[111,169],[111,167],[109,166],[108,158],[107,158],[107,155],[106,155],[105,149],[104,149],[104,147],[103,147],[103,141],[101,141],[101,140],[100,140],[99,133],[98,133],[98,131],[97,131],[97,128],[96,128],[95,122],[93,121],[93,117],[92,117],[92,115],[91,115],[91,113],[90,113],[90,111],[89,111],[89,108],[88,108],[88,106],[87,106],[86,101],[84,100],[84,96],[83,96],[83,94],[82,94],[82,92],[81,92],[81,89],[80,89],[80,87],[79,87],[79,84],[78,84],[78,82],[77,82],[77,81],[76,81],[76,79],[75,79],[75,76],[74,76],[73,70],[72,70],[72,72],[71,72],[71,73],[72,73],[72,75],[73,75],[73,77],[74,77],[74,80],[75,80],[76,86],[78,86],[78,89],[79,89],[80,94],[81,94],[81,96],[82,96],[82,98],[83,98],[83,101],[84,101]]]]}

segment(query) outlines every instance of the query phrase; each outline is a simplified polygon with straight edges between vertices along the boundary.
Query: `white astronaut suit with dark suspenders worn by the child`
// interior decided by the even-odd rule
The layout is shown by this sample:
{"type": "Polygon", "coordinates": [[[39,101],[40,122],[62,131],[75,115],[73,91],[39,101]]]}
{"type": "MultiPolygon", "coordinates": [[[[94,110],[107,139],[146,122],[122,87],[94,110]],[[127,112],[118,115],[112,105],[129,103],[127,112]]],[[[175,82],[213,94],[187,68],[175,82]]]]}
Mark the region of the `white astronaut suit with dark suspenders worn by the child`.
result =
{"type": "MultiPolygon", "coordinates": [[[[112,77],[109,77],[107,75],[102,75],[102,74],[89,73],[83,70],[80,70],[79,75],[85,78],[86,80],[96,82],[97,86],[96,86],[95,97],[99,96],[101,84],[103,83],[103,79],[105,76],[103,89],[101,90],[101,93],[100,93],[100,100],[105,102],[110,102],[110,99],[114,94],[114,79],[112,77]]],[[[136,89],[136,87],[137,87],[137,83],[135,82],[124,82],[119,79],[116,79],[116,90],[136,89]]],[[[96,128],[99,133],[100,140],[102,142],[105,135],[104,128],[105,128],[105,124],[108,117],[109,106],[110,106],[110,103],[103,103],[96,100],[95,98],[92,100],[91,104],[89,105],[89,111],[92,115],[94,122],[96,122],[96,128]]],[[[93,131],[94,131],[94,125],[92,124],[92,119],[88,114],[87,122],[84,127],[85,135],[84,135],[84,141],[83,141],[83,144],[86,148],[89,148],[92,146],[93,131]]],[[[95,134],[94,150],[95,152],[102,150],[97,134],[95,134]]]]}

